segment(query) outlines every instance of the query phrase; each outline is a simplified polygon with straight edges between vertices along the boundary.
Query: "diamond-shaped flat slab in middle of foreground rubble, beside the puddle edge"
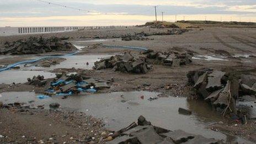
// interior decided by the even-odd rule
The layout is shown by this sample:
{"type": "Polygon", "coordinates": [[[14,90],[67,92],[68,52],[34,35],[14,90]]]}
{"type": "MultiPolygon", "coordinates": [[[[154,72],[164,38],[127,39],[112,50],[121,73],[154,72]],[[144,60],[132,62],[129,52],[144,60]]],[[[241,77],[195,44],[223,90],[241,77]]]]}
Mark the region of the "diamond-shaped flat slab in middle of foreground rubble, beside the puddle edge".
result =
{"type": "Polygon", "coordinates": [[[195,137],[193,134],[189,134],[183,130],[170,131],[168,133],[159,134],[164,137],[169,137],[175,143],[182,143],[195,137]]]}

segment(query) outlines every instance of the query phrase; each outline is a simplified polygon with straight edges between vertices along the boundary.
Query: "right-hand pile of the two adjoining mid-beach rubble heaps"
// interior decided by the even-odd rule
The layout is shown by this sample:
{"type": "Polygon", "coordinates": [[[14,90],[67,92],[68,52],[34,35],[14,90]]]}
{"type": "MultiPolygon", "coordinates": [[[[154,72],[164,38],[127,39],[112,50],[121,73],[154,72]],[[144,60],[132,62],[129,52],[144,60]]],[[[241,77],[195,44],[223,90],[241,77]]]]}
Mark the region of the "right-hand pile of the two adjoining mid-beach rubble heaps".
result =
{"type": "Polygon", "coordinates": [[[192,62],[193,54],[190,52],[185,52],[180,54],[179,52],[155,52],[153,50],[148,50],[143,54],[147,55],[147,58],[154,59],[154,63],[165,66],[183,66],[188,65],[192,62]]]}

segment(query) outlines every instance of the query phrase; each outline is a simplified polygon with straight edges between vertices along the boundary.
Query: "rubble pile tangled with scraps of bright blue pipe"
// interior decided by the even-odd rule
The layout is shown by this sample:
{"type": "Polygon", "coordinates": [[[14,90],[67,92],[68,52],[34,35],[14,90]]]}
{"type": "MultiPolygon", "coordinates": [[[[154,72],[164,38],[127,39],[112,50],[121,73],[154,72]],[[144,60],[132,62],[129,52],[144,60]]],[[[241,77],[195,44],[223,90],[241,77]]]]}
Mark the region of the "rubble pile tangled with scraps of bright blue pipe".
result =
{"type": "Polygon", "coordinates": [[[82,92],[97,92],[110,88],[109,79],[86,77],[84,73],[56,73],[56,78],[44,79],[44,76],[28,78],[28,84],[44,87],[46,95],[72,95],[82,92]]]}

